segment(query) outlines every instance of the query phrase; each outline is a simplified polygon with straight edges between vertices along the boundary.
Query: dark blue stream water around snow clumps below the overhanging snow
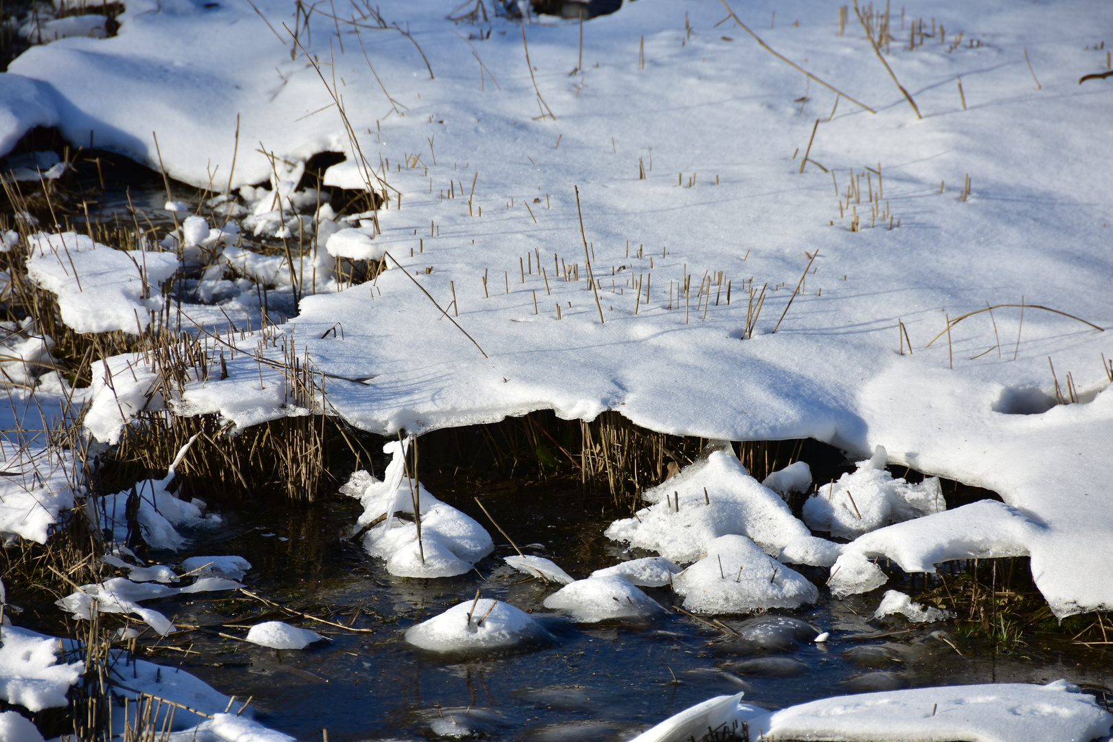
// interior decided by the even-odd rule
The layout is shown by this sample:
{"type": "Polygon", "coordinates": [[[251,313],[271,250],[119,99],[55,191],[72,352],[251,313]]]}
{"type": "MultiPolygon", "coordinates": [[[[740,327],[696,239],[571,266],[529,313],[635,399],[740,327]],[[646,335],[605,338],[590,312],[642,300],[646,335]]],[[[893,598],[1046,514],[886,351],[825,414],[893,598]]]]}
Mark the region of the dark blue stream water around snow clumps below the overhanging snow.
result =
{"type": "MultiPolygon", "coordinates": [[[[243,555],[255,565],[246,578],[249,590],[339,623],[354,617],[353,626],[373,633],[278,613],[262,616],[262,604],[240,596],[193,603],[170,598],[148,605],[167,615],[176,612],[178,623],[203,626],[178,640],[203,654],[181,662],[180,653],[168,652],[161,661],[180,662],[225,693],[252,696],[264,723],[299,740],[322,739],[323,729],[329,740],[435,738],[434,728],[457,735],[472,730],[493,740],[621,740],[712,695],[738,691],[751,703],[781,708],[843,693],[934,684],[1065,677],[1104,686],[1110,680],[1103,653],[1073,652],[1064,644],[1031,645],[1005,655],[984,642],[948,634],[952,646],[933,634],[953,630],[945,624],[870,621],[881,591],[843,601],[825,596],[818,606],[786,614],[830,632],[823,645],[810,641],[815,634],[806,627],[795,640],[774,637],[764,647],[729,641],[726,632],[670,607],[658,621],[642,624],[554,620],[555,645],[445,659],[407,645],[405,629],[472,600],[477,588],[485,597],[534,613],[544,612],[541,602],[555,590],[506,568],[499,557],[514,551],[490,526],[472,493],[447,489],[433,492],[487,526],[496,543],[495,554],[475,571],[452,578],[392,576],[381,562],[342,541],[338,533],[359,512],[354,499],[335,497],[309,508],[242,507],[235,522],[190,551],[243,555]],[[224,626],[260,620],[285,620],[333,641],[276,652],[215,634],[242,636],[244,630],[224,626]]],[[[609,502],[581,494],[567,481],[484,495],[491,515],[515,543],[552,557],[575,577],[623,556],[644,555],[626,553],[601,535],[622,515],[609,502]]],[[[821,586],[824,572],[809,576],[821,586]]],[[[646,592],[672,605],[668,588],[646,592]]],[[[752,616],[723,619],[743,633],[754,622],[752,616]]]]}

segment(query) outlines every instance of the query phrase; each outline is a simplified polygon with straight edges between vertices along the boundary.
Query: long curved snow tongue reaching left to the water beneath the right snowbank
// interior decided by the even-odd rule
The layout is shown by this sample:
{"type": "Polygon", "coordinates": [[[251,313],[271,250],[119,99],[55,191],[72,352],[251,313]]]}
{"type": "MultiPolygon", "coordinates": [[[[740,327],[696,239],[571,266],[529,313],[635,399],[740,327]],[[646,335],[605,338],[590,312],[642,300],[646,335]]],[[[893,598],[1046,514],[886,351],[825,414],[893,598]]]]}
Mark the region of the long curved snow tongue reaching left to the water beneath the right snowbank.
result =
{"type": "Polygon", "coordinates": [[[983,499],[859,536],[843,547],[828,585],[837,597],[884,585],[885,573],[871,557],[890,558],[905,572],[934,573],[936,564],[952,560],[1027,556],[1045,531],[1015,507],[983,499]]]}

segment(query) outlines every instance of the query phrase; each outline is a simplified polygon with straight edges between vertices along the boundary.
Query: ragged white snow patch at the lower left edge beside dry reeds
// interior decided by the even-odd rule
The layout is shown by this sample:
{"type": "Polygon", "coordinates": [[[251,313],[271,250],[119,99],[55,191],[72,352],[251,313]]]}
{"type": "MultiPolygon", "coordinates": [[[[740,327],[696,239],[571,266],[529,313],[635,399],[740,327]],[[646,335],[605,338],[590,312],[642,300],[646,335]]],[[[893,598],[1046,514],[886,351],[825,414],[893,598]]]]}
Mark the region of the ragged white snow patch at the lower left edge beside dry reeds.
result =
{"type": "Polygon", "coordinates": [[[80,680],[85,663],[58,664],[57,652],[57,639],[6,625],[0,633],[0,699],[29,711],[68,705],[66,693],[80,680]]]}

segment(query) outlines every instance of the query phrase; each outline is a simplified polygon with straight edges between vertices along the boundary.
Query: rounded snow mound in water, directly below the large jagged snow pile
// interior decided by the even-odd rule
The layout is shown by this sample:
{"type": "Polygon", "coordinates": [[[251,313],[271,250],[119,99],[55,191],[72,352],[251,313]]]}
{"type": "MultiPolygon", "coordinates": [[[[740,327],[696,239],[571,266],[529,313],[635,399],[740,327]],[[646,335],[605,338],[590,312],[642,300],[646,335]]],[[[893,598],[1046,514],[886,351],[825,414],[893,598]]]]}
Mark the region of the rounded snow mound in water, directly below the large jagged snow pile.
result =
{"type": "Polygon", "coordinates": [[[672,578],[672,588],[693,613],[795,609],[819,600],[819,591],[804,576],[737,535],[711,542],[706,557],[672,578]]]}

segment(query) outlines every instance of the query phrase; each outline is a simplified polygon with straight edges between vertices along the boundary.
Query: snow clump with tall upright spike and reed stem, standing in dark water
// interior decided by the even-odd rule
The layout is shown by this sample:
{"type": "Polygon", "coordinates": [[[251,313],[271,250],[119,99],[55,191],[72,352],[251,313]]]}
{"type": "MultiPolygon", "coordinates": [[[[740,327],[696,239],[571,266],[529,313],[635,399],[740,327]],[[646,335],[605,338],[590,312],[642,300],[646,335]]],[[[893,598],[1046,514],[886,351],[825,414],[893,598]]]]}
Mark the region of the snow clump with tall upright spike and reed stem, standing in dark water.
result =
{"type": "Polygon", "coordinates": [[[483,526],[405,476],[406,446],[402,442],[387,443],[383,452],[393,459],[382,482],[359,471],[341,492],[363,504],[356,528],[367,527],[364,550],[385,560],[387,572],[402,577],[451,577],[464,574],[494,550],[483,526]],[[414,498],[421,513],[420,542],[413,522],[414,498]],[[410,520],[403,521],[398,514],[410,520]]]}

